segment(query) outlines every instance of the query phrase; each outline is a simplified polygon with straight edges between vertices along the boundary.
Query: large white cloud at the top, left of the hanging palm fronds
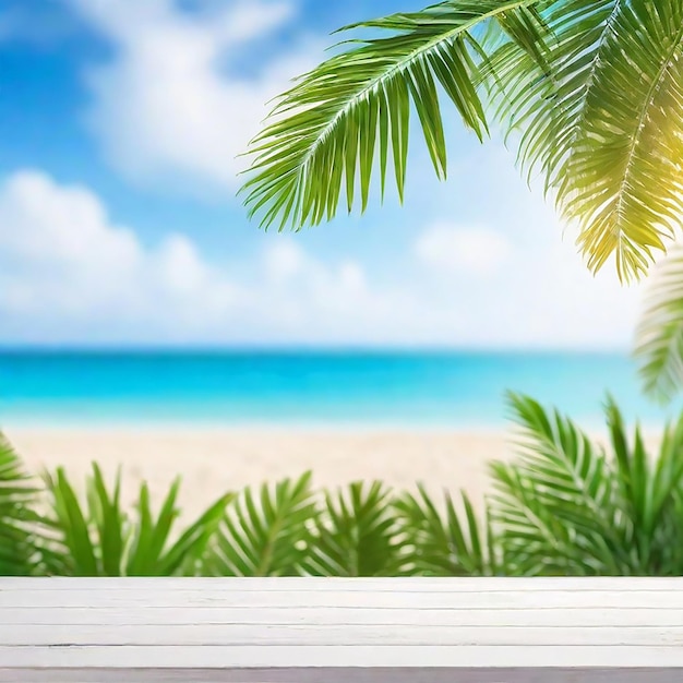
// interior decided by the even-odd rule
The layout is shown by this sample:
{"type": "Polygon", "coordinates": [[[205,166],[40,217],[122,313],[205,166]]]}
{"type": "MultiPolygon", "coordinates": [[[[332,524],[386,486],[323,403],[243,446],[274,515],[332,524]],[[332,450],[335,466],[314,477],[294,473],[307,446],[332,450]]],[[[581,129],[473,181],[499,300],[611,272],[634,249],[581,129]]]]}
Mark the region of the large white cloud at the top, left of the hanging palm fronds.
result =
{"type": "Polygon", "coordinates": [[[113,45],[111,60],[87,72],[86,120],[107,158],[136,181],[191,193],[235,190],[244,167],[237,157],[265,103],[321,52],[303,40],[252,75],[232,70],[248,44],[292,16],[284,0],[228,0],[192,13],[177,0],[68,1],[113,45]]]}

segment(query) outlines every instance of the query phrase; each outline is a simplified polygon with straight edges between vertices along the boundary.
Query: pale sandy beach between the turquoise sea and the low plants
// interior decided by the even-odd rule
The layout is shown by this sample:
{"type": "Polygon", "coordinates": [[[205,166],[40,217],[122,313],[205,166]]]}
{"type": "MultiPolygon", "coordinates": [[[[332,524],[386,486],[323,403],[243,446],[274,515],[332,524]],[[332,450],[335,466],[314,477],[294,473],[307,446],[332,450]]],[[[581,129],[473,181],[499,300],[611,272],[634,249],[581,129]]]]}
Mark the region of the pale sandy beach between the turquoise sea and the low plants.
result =
{"type": "Polygon", "coordinates": [[[363,479],[432,491],[466,489],[481,496],[489,486],[487,463],[507,458],[504,432],[334,431],[286,429],[83,428],[8,429],[29,469],[64,466],[83,481],[97,460],[108,476],[121,466],[123,498],[130,503],[141,480],[158,502],[182,476],[183,516],[200,513],[227,490],[313,470],[317,486],[363,479]]]}

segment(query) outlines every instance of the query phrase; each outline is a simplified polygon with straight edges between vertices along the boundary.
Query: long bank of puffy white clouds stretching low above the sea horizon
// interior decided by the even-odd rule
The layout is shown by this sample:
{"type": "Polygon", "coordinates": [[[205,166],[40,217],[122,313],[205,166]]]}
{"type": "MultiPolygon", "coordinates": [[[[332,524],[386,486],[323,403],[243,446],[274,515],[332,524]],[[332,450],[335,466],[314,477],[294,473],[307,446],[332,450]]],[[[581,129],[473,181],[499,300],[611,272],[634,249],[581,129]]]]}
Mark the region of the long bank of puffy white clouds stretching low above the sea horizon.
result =
{"type": "Polygon", "coordinates": [[[143,242],[86,188],[17,172],[0,184],[0,342],[625,346],[639,290],[594,278],[558,229],[499,242],[438,224],[384,274],[279,235],[217,264],[181,233],[143,242]]]}

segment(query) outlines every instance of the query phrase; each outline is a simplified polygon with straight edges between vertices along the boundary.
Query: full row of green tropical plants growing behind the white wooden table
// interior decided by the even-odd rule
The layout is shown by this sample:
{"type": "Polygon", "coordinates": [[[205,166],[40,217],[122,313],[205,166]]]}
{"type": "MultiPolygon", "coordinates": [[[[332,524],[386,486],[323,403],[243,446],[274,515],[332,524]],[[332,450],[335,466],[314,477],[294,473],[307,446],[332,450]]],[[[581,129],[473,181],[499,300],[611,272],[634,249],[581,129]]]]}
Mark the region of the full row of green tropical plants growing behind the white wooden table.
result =
{"type": "MultiPolygon", "coordinates": [[[[178,482],[155,516],[94,466],[79,494],[62,469],[39,490],[3,443],[0,573],[209,576],[683,575],[683,416],[658,454],[606,405],[609,448],[512,395],[517,457],[491,466],[484,504],[381,482],[336,491],[310,474],[216,501],[175,529],[178,482]]],[[[466,454],[463,454],[466,456],[466,454]]]]}

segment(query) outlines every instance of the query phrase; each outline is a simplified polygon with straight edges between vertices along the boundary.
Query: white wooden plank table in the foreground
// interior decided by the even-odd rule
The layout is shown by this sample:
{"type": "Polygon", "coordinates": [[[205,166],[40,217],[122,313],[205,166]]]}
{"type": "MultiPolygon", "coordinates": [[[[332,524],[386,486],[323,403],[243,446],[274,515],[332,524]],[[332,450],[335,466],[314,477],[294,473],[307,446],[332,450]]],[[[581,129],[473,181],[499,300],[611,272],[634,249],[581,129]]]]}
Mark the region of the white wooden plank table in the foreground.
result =
{"type": "Polygon", "coordinates": [[[683,681],[683,579],[0,578],[0,681],[683,681]]]}

